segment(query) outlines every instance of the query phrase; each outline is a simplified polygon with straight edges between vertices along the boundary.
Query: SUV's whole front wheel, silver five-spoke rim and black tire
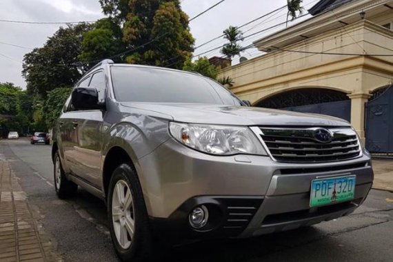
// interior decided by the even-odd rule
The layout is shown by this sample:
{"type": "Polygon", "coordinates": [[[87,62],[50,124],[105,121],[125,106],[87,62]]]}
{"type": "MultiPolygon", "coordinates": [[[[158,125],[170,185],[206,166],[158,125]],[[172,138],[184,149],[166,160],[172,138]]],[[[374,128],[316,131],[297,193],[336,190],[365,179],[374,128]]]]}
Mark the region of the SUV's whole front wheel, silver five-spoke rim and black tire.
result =
{"type": "Polygon", "coordinates": [[[114,170],[108,190],[112,243],[122,261],[152,259],[148,212],[136,172],[127,163],[114,170]]]}

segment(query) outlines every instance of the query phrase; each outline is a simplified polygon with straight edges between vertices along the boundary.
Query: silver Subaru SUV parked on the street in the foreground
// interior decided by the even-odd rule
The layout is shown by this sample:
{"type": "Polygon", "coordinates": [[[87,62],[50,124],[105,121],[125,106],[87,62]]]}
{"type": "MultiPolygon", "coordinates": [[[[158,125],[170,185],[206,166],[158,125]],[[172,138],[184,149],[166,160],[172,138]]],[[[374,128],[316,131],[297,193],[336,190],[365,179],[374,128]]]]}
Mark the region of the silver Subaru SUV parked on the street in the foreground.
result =
{"type": "Polygon", "coordinates": [[[336,219],[374,177],[346,121],[252,108],[199,74],[112,61],[77,83],[53,139],[58,196],[79,185],[103,199],[122,260],[150,254],[153,235],[243,238],[336,219]]]}

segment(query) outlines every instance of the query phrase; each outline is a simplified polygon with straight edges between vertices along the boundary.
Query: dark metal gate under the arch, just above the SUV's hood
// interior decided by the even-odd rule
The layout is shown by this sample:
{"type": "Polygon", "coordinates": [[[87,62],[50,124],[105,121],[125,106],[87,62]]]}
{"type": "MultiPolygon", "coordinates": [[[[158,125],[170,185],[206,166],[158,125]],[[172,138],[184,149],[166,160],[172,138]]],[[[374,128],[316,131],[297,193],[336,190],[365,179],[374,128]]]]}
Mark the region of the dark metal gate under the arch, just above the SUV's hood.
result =
{"type": "Polygon", "coordinates": [[[283,108],[283,110],[315,114],[328,114],[332,117],[339,117],[341,119],[345,119],[348,122],[350,122],[351,120],[350,99],[328,103],[316,103],[314,105],[292,106],[290,108],[283,108]]]}

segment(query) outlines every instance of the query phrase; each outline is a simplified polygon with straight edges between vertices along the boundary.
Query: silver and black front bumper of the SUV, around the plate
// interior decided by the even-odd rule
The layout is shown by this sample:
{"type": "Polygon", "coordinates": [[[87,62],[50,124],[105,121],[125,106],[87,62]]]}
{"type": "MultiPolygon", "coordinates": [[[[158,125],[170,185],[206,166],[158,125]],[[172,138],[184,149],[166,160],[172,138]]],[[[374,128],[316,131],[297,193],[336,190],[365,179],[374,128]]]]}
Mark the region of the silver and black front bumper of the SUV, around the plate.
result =
{"type": "Polygon", "coordinates": [[[367,154],[334,163],[288,164],[261,156],[211,156],[172,139],[139,159],[139,168],[154,230],[192,238],[256,236],[336,219],[363,203],[374,179],[367,154]],[[347,174],[356,174],[353,201],[310,208],[313,179],[347,174]],[[202,203],[214,207],[219,219],[194,230],[188,214],[202,203]]]}

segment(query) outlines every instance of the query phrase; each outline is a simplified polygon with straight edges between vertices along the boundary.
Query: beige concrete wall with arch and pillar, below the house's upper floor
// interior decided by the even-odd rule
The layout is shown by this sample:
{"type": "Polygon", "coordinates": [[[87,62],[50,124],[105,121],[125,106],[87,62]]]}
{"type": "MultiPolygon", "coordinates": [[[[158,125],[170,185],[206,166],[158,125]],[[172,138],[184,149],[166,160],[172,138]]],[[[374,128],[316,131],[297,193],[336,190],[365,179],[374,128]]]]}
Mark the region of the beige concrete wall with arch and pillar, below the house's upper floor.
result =
{"type": "Polygon", "coordinates": [[[393,12],[370,19],[225,68],[219,77],[231,77],[234,85],[230,90],[252,103],[294,88],[321,87],[346,92],[352,99],[352,125],[364,137],[364,103],[369,93],[393,79],[393,57],[357,55],[393,54],[393,32],[373,22],[391,21],[393,12]]]}

